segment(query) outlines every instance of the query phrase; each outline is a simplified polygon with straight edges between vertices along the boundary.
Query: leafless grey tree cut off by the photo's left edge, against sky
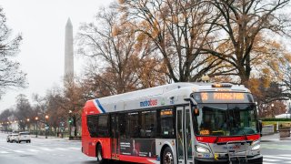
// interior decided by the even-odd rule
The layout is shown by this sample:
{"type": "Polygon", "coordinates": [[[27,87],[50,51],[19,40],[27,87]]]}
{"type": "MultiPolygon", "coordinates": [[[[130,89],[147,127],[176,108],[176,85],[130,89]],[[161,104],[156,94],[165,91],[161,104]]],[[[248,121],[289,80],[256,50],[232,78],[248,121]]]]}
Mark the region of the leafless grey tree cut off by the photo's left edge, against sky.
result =
{"type": "Polygon", "coordinates": [[[6,17],[0,7],[0,96],[8,87],[25,87],[25,73],[13,57],[19,52],[22,36],[11,38],[11,29],[6,26],[6,17]]]}

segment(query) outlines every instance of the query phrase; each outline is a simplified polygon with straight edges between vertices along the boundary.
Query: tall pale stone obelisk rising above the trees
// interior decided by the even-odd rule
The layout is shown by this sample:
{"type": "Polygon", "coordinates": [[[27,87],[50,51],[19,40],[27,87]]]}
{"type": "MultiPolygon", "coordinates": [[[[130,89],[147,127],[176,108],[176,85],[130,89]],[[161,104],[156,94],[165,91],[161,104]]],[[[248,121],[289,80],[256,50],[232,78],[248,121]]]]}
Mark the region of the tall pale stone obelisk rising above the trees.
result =
{"type": "Polygon", "coordinates": [[[65,73],[64,79],[71,80],[74,77],[74,47],[73,47],[73,26],[68,18],[65,25],[65,73]]]}

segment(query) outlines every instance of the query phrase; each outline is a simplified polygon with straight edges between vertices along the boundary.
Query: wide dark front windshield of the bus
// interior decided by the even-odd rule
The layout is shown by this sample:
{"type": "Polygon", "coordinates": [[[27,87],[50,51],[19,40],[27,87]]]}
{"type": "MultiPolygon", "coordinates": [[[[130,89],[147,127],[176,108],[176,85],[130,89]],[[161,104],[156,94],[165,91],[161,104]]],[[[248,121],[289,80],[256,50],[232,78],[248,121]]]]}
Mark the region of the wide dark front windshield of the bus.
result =
{"type": "Polygon", "coordinates": [[[199,104],[193,116],[199,136],[243,136],[258,132],[253,104],[199,104]]]}

